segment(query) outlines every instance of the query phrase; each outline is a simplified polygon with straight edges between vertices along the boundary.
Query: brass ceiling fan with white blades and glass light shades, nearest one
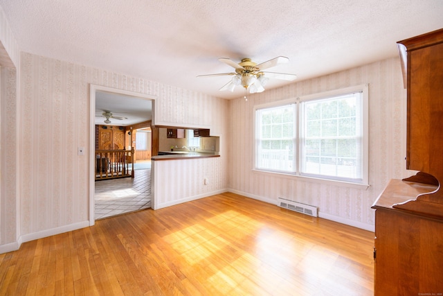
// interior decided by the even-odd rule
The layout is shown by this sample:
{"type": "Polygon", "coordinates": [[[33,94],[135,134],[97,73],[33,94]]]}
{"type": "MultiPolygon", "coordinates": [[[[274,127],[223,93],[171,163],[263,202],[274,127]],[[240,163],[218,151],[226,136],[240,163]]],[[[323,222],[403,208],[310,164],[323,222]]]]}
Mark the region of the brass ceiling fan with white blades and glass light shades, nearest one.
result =
{"type": "Polygon", "coordinates": [[[249,90],[250,94],[256,92],[263,92],[264,85],[268,82],[269,78],[281,79],[281,80],[295,80],[297,76],[295,74],[288,73],[275,73],[275,72],[264,72],[264,69],[275,67],[278,64],[284,64],[289,62],[289,58],[279,56],[273,58],[272,60],[262,62],[257,64],[251,61],[250,58],[244,58],[242,62],[238,64],[233,62],[228,58],[219,58],[220,62],[228,64],[230,67],[235,69],[235,73],[219,73],[219,74],[208,74],[199,75],[197,77],[210,77],[210,76],[234,76],[226,85],[219,89],[220,91],[228,90],[233,92],[237,85],[242,85],[245,92],[249,90]]]}

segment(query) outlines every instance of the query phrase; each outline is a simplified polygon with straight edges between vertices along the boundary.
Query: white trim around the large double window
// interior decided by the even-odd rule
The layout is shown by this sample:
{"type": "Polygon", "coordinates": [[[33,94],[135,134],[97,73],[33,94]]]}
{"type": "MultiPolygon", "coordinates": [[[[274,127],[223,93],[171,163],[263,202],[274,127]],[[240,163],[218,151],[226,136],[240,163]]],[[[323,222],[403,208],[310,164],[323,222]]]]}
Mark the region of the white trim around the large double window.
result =
{"type": "MultiPolygon", "coordinates": [[[[298,119],[297,117],[297,120],[298,119]]],[[[320,183],[320,184],[330,184],[330,185],[336,185],[336,186],[347,186],[347,187],[351,187],[351,188],[356,188],[356,189],[368,189],[369,185],[369,85],[365,84],[365,85],[356,85],[353,87],[345,87],[343,89],[334,89],[332,91],[328,91],[328,92],[321,92],[321,93],[317,93],[317,94],[309,94],[307,96],[300,96],[298,98],[290,98],[290,99],[286,99],[286,100],[282,100],[282,101],[278,101],[278,102],[271,102],[271,103],[265,103],[262,105],[256,105],[253,107],[253,168],[252,171],[256,172],[256,173],[264,173],[264,174],[269,174],[269,175],[281,175],[283,177],[289,177],[291,179],[300,179],[303,181],[307,181],[307,182],[316,182],[316,183],[320,183]],[[256,145],[256,132],[257,132],[257,118],[256,118],[256,114],[257,114],[257,110],[260,109],[265,109],[265,108],[269,108],[269,107],[278,107],[281,105],[288,105],[291,103],[296,103],[297,107],[297,116],[299,116],[300,114],[300,102],[302,101],[310,101],[310,100],[314,100],[314,99],[320,99],[320,98],[326,98],[329,96],[338,96],[341,94],[345,94],[345,93],[351,93],[351,92],[362,92],[362,97],[363,97],[363,112],[362,112],[362,123],[363,123],[363,155],[362,155],[362,159],[363,159],[363,176],[362,176],[362,182],[345,182],[342,180],[333,180],[333,179],[323,179],[323,178],[317,178],[317,177],[310,177],[310,176],[305,176],[305,175],[300,175],[300,128],[299,126],[296,128],[296,173],[282,173],[282,172],[276,172],[276,171],[264,171],[261,170],[259,168],[256,168],[256,162],[255,162],[255,157],[257,155],[257,145],[256,145]]]]}

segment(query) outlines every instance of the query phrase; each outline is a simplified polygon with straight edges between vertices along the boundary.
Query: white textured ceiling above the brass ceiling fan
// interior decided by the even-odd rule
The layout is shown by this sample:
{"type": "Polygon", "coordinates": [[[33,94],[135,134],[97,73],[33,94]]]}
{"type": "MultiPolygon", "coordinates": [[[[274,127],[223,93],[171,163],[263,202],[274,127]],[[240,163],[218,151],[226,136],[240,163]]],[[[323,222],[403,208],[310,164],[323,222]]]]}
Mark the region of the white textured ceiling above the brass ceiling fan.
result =
{"type": "MultiPolygon", "coordinates": [[[[443,28],[442,0],[0,0],[21,51],[221,98],[232,71],[260,63],[305,80],[397,55],[396,42],[443,28]]],[[[288,82],[270,80],[266,89],[288,82]]]]}

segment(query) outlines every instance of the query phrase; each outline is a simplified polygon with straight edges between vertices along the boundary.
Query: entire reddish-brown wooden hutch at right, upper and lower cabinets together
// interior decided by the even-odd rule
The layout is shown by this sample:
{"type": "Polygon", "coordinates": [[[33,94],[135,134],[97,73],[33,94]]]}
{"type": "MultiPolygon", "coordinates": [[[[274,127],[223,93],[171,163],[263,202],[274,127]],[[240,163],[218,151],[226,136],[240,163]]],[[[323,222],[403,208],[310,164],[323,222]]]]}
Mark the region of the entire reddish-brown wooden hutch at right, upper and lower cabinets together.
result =
{"type": "Polygon", "coordinates": [[[398,42],[406,168],[374,202],[374,295],[443,295],[443,29],[398,42]]]}

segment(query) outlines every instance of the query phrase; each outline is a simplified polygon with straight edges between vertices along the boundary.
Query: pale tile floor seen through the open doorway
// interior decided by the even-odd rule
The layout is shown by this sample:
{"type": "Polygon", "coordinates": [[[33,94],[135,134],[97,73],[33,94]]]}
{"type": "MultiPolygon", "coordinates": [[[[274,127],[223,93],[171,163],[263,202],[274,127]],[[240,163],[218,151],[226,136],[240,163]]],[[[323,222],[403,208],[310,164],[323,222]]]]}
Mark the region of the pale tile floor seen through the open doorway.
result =
{"type": "Polygon", "coordinates": [[[151,170],[131,177],[96,181],[96,220],[151,207],[151,170]]]}

